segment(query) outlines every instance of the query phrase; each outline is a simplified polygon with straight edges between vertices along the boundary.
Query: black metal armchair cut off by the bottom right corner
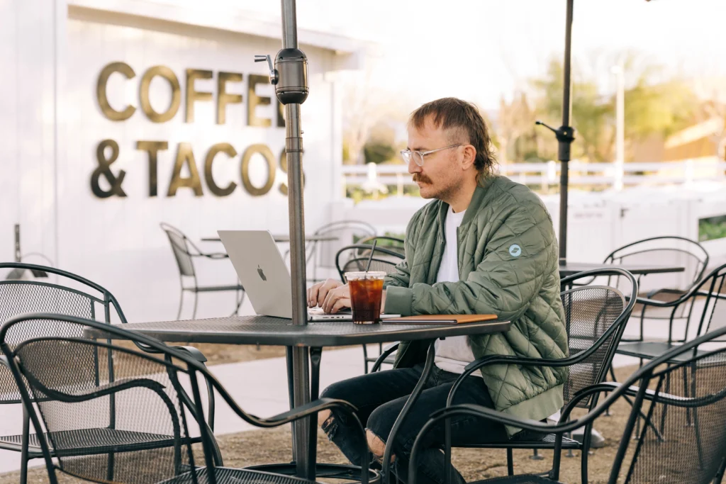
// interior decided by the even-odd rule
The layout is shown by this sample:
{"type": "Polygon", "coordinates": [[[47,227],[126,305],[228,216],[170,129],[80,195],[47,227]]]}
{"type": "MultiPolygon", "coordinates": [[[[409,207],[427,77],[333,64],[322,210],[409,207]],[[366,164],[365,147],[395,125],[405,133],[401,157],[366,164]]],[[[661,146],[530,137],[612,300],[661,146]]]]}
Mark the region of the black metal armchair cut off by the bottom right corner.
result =
{"type": "MultiPolygon", "coordinates": [[[[707,333],[685,345],[667,351],[640,368],[622,384],[602,382],[583,387],[563,410],[560,424],[547,425],[522,420],[476,405],[455,405],[431,415],[418,435],[411,456],[409,484],[415,484],[415,464],[423,435],[442,419],[454,415],[481,417],[523,428],[531,432],[557,435],[552,470],[547,476],[516,475],[476,481],[476,484],[553,484],[560,473],[560,449],[563,434],[592,422],[605,413],[618,398],[634,399],[632,411],[613,459],[608,484],[711,484],[720,483],[726,459],[726,348],[702,350],[726,337],[726,327],[707,333]],[[668,361],[679,363],[666,366],[668,361]],[[697,377],[683,382],[676,372],[686,370],[697,377]],[[568,421],[580,399],[595,399],[611,392],[602,403],[584,417],[568,421]],[[648,401],[649,406],[644,406],[648,401]],[[635,421],[646,419],[642,432],[635,430],[635,421]],[[566,422],[566,423],[562,423],[566,422]],[[659,429],[659,432],[656,432],[659,429]],[[637,440],[632,437],[637,435],[637,440]],[[629,449],[630,446],[634,448],[629,449]],[[626,454],[629,450],[629,460],[626,454]],[[621,475],[624,474],[624,475],[621,475]]],[[[518,363],[521,358],[497,358],[497,363],[518,363]]],[[[526,361],[526,358],[522,361],[526,361]]],[[[586,432],[587,434],[587,432],[586,432]]],[[[448,448],[447,448],[448,450],[448,448]]],[[[448,452],[446,453],[448,455],[448,452]]],[[[384,460],[384,462],[386,462],[384,460]]],[[[450,465],[450,462],[446,463],[450,465]]],[[[384,467],[385,469],[385,467],[384,467]]],[[[446,472],[447,481],[450,480],[446,472]]]]}

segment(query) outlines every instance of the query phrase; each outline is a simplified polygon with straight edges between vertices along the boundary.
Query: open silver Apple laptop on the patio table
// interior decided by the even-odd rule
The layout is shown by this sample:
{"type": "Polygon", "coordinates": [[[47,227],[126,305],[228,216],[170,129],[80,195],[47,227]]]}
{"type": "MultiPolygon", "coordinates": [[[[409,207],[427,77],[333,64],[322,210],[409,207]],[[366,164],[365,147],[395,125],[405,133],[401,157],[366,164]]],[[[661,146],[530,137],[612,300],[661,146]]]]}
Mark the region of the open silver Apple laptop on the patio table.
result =
{"type": "MultiPolygon", "coordinates": [[[[229,261],[240,278],[256,313],[277,318],[293,318],[290,271],[280,249],[266,230],[217,231],[229,261]]],[[[399,314],[381,314],[383,318],[399,314]]],[[[308,308],[308,321],[352,321],[350,311],[325,314],[322,308],[308,308]]]]}

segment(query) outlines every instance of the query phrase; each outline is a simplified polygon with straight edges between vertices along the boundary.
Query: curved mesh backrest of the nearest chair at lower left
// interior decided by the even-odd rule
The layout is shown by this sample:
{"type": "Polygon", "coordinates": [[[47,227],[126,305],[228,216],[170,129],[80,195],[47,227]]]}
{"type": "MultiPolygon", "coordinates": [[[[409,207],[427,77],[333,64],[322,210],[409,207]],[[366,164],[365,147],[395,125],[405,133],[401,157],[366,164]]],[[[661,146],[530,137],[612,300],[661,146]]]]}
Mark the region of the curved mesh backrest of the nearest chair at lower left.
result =
{"type": "MultiPolygon", "coordinates": [[[[94,322],[44,316],[45,321],[56,317],[57,324],[72,327],[76,335],[94,322]]],[[[189,372],[184,360],[171,364],[171,356],[179,358],[174,350],[162,350],[165,361],[82,336],[50,335],[35,335],[10,348],[11,332],[38,323],[24,317],[4,324],[0,344],[15,379],[27,382],[23,403],[36,401],[30,419],[52,484],[57,470],[91,482],[156,483],[194,469],[190,412],[181,389],[190,382],[189,372]]]]}

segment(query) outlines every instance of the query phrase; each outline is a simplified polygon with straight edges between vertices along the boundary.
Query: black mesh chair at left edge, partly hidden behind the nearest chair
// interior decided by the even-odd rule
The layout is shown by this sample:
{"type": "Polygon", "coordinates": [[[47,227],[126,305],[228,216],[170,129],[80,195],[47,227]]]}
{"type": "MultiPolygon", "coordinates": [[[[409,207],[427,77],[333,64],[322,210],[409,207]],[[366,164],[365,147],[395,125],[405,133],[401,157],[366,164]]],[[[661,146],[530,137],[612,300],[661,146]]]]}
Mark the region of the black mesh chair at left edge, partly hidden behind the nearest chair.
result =
{"type": "MultiPolygon", "coordinates": [[[[126,323],[126,316],[121,311],[118,300],[104,287],[89,281],[81,276],[61,269],[36,266],[26,263],[0,263],[0,269],[14,271],[44,271],[50,276],[62,278],[64,284],[49,282],[49,279],[33,280],[1,280],[0,281],[0,321],[22,313],[52,312],[86,319],[100,319],[105,324],[112,321],[112,317],[121,323],[126,323]]],[[[28,337],[35,336],[67,336],[80,337],[77,327],[59,324],[57,321],[33,321],[25,325],[24,332],[12,332],[7,335],[6,344],[9,348],[20,344],[28,337]]],[[[152,348],[142,348],[151,351],[152,348]]],[[[197,361],[204,362],[204,355],[192,347],[179,347],[197,361]]],[[[51,359],[47,361],[51,362],[51,359]]],[[[90,362],[89,362],[90,364],[90,362]]],[[[214,401],[213,394],[208,392],[211,408],[211,422],[213,422],[214,401]]],[[[19,404],[20,390],[15,384],[12,374],[6,366],[0,365],[0,404],[19,404]]],[[[28,460],[43,456],[40,446],[41,438],[30,433],[30,421],[27,412],[23,412],[23,422],[19,425],[20,434],[0,437],[0,449],[20,452],[20,483],[27,479],[28,460]]],[[[74,427],[70,422],[64,429],[66,438],[80,438],[83,427],[74,427]]],[[[142,443],[139,435],[117,435],[113,430],[107,431],[108,438],[126,438],[129,443],[142,443]]],[[[53,455],[53,450],[51,449],[53,455]]]]}

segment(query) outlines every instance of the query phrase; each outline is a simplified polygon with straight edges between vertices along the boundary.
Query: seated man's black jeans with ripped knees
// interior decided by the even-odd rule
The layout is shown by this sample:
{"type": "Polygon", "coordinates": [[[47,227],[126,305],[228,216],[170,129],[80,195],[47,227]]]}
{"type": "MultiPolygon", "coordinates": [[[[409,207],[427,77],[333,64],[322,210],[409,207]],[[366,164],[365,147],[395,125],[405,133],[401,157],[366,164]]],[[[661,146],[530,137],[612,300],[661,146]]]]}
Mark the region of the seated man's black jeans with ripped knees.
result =
{"type": "MultiPolygon", "coordinates": [[[[365,374],[360,377],[343,380],[327,387],[321,396],[339,398],[352,403],[358,409],[358,418],[383,442],[388,442],[388,435],[393,427],[396,417],[399,416],[408,395],[413,391],[423,372],[423,365],[413,368],[392,369],[385,372],[365,374]]],[[[428,421],[433,411],[446,406],[454,380],[458,374],[444,372],[433,367],[426,386],[404,419],[393,441],[392,466],[393,473],[400,480],[407,482],[409,458],[413,443],[428,421]]],[[[468,377],[457,391],[454,404],[476,403],[481,406],[494,408],[489,390],[480,377],[468,377]]],[[[478,417],[452,417],[452,443],[485,443],[507,440],[502,424],[478,417]]],[[[345,454],[351,464],[361,465],[361,448],[363,436],[346,419],[346,414],[333,410],[330,419],[322,426],[330,440],[345,454]]],[[[422,452],[417,459],[417,483],[442,484],[444,483],[444,421],[433,427],[425,436],[422,452]],[[424,450],[425,449],[425,450],[424,450]]],[[[451,482],[464,484],[461,474],[454,469],[451,482]]]]}

